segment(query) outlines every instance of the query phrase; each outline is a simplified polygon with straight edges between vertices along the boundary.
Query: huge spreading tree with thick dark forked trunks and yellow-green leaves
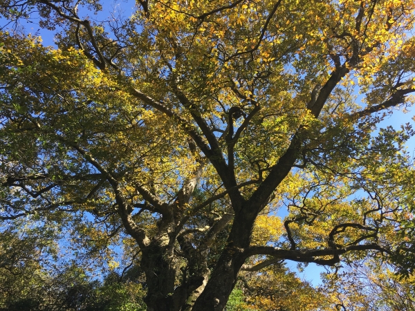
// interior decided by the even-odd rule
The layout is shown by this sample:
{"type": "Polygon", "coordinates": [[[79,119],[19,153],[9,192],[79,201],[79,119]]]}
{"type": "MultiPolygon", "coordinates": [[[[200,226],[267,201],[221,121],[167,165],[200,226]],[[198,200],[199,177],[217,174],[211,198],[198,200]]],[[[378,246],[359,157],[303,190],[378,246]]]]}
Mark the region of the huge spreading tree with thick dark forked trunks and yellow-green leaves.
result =
{"type": "Polygon", "coordinates": [[[91,271],[139,263],[147,310],[223,310],[241,270],[282,260],[412,253],[414,132],[377,124],[412,104],[413,1],[104,4],[1,1],[57,44],[1,32],[5,227],[91,271]]]}

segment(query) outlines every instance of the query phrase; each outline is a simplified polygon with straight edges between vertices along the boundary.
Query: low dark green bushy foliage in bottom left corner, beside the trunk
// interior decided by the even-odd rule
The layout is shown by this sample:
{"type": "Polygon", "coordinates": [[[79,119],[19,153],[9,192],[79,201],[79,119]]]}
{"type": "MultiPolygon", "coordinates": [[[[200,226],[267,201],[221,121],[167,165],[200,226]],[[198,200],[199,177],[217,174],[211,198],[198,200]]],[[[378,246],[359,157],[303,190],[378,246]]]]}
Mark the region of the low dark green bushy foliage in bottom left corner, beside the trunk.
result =
{"type": "Polygon", "coordinates": [[[91,281],[82,267],[66,267],[55,275],[33,276],[17,274],[7,278],[8,287],[2,288],[0,310],[84,310],[84,311],[143,311],[142,285],[116,273],[109,273],[102,282],[91,281]],[[14,281],[14,282],[10,282],[14,281]],[[12,291],[12,294],[8,292],[12,291]]]}

